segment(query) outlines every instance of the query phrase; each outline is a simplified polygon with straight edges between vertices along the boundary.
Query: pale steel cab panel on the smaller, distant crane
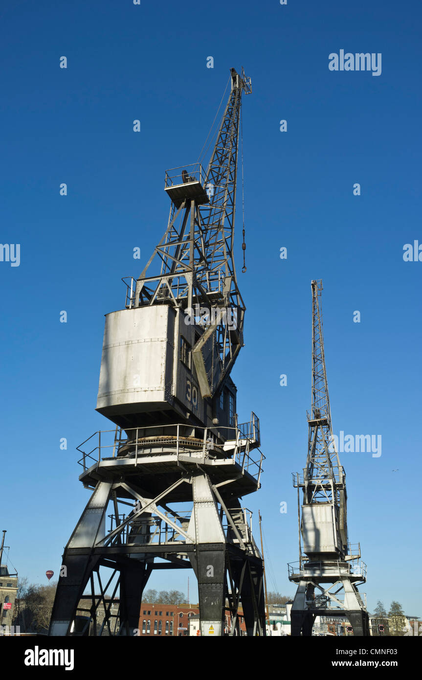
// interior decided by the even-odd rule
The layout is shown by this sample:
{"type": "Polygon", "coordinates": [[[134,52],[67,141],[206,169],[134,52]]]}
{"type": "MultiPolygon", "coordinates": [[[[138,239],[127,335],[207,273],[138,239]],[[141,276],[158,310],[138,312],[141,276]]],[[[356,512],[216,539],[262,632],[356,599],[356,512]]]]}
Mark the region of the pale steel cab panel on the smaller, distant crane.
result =
{"type": "Polygon", "coordinates": [[[336,515],[330,503],[302,505],[302,537],[306,554],[340,550],[336,515]]]}

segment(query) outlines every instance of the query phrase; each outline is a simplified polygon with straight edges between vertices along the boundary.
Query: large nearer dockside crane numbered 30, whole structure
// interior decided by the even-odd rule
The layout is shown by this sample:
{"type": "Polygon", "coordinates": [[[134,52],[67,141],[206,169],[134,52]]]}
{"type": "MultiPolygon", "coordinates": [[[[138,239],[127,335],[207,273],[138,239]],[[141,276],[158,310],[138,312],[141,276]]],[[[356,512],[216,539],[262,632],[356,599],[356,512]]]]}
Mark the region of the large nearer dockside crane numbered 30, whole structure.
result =
{"type": "Polygon", "coordinates": [[[234,211],[251,80],[231,69],[229,82],[207,169],[166,171],[164,236],[105,318],[96,410],[113,426],[78,447],[92,495],[65,547],[50,635],[137,634],[145,585],[167,568],[194,569],[202,635],[240,634],[240,606],[247,634],[265,635],[262,556],[240,502],[260,488],[260,424],[254,413],[239,424],[230,377],[243,346],[234,211]]]}

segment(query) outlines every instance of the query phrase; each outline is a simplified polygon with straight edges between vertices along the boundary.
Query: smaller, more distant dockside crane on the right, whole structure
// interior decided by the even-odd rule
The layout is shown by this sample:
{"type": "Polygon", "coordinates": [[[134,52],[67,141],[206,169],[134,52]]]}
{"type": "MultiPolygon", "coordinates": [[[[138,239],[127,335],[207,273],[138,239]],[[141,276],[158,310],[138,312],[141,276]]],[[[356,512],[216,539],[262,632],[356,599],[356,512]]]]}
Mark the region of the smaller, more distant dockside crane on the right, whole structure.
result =
{"type": "Polygon", "coordinates": [[[312,409],[308,456],[303,474],[294,475],[294,487],[302,489],[299,563],[289,564],[289,580],[298,583],[292,605],[292,635],[311,635],[315,617],[342,613],[354,635],[369,635],[366,605],[357,590],[366,582],[366,564],[359,543],[347,535],[346,475],[332,436],[326,360],[321,316],[322,282],[312,287],[312,409]]]}

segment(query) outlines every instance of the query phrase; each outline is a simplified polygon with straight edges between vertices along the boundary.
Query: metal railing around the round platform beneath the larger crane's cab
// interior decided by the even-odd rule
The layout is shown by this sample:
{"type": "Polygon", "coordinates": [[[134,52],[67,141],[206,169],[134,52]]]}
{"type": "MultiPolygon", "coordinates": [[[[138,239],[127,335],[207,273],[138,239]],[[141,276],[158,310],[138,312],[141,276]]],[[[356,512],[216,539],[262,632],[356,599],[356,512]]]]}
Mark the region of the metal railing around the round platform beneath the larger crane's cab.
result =
{"type": "MultiPolygon", "coordinates": [[[[241,431],[239,426],[221,428],[224,429],[224,437],[221,436],[218,426],[204,428],[181,423],[130,428],[126,431],[118,427],[115,430],[98,430],[76,447],[77,451],[82,454],[82,458],[77,462],[85,472],[94,463],[98,464],[105,458],[115,458],[120,453],[120,456],[135,458],[136,466],[138,462],[141,462],[141,457],[145,456],[144,449],[171,447],[175,449],[177,458],[182,455],[185,460],[186,456],[192,456],[194,460],[198,458],[198,454],[210,460],[224,458],[225,464],[231,462],[233,465],[241,466],[242,475],[248,473],[259,484],[265,456],[259,448],[256,448],[257,424],[256,420],[251,419],[252,421],[255,426],[252,425],[247,433],[241,431]],[[232,449],[224,449],[226,439],[233,442],[232,449]],[[251,445],[256,451],[253,456],[250,453],[251,445]]],[[[168,455],[169,451],[162,453],[168,455]]]]}

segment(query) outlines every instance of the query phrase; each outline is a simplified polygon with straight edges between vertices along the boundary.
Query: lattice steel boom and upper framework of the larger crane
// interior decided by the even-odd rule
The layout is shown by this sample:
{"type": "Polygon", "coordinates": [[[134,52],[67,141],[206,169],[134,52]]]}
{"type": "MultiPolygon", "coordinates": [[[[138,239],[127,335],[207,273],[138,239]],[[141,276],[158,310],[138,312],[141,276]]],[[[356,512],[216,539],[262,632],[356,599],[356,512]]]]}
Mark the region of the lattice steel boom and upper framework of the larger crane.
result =
{"type": "Polygon", "coordinates": [[[242,94],[251,80],[230,69],[231,90],[207,170],[166,171],[166,232],[137,279],[134,307],[166,304],[201,326],[192,358],[203,398],[222,389],[243,345],[245,305],[234,266],[234,214],[242,94]],[[158,261],[159,274],[150,275],[158,261]]]}

